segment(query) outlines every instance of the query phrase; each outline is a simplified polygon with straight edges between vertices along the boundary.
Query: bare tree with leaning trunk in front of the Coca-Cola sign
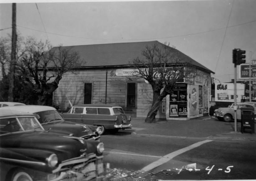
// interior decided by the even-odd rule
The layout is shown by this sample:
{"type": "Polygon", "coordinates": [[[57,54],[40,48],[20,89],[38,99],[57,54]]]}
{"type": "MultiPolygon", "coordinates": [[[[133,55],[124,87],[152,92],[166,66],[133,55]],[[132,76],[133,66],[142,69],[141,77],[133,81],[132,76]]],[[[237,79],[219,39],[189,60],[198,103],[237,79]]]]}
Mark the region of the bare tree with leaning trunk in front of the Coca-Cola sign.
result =
{"type": "Polygon", "coordinates": [[[184,54],[166,43],[146,46],[142,55],[145,59],[137,57],[130,66],[137,71],[135,78],[144,78],[152,87],[153,101],[145,122],[155,122],[162,99],[172,93],[177,82],[194,78],[196,69],[184,60],[184,54]]]}

